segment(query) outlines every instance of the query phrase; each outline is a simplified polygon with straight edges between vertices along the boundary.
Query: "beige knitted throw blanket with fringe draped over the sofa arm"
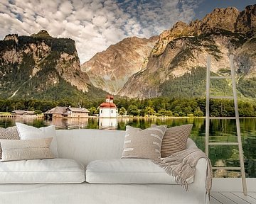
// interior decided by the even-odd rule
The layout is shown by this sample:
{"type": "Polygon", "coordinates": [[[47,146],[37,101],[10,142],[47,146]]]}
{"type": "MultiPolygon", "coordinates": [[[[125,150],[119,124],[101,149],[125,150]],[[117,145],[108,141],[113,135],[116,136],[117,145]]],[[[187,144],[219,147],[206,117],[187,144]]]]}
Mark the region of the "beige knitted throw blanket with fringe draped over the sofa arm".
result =
{"type": "Polygon", "coordinates": [[[152,162],[161,166],[167,174],[174,176],[176,183],[181,184],[188,191],[188,182],[186,179],[195,175],[196,164],[201,158],[206,158],[208,163],[206,171],[206,193],[210,196],[213,179],[210,159],[200,149],[185,149],[166,158],[154,159],[152,162]]]}

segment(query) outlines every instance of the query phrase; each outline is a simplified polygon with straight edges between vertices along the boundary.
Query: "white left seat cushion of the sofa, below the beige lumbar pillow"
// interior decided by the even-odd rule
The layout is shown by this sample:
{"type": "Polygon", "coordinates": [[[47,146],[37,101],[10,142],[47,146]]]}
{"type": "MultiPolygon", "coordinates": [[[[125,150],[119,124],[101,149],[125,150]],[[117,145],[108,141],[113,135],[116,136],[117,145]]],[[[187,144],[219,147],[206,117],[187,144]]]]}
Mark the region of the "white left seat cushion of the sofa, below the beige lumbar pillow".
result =
{"type": "Polygon", "coordinates": [[[0,183],[82,183],[85,168],[73,159],[0,162],[0,183]]]}

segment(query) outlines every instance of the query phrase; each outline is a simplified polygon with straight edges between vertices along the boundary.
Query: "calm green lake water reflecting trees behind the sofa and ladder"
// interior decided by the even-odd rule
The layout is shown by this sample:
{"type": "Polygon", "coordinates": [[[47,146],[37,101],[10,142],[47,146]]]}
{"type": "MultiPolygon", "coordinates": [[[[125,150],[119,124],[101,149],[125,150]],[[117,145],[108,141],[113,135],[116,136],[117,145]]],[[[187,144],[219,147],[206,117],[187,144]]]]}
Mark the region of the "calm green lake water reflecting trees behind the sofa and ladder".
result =
{"type": "MultiPolygon", "coordinates": [[[[173,127],[191,123],[191,139],[204,151],[206,122],[203,118],[0,118],[0,127],[8,128],[21,122],[37,128],[55,125],[56,129],[112,129],[125,130],[126,125],[149,128],[151,124],[173,127]]],[[[256,118],[240,118],[242,148],[245,157],[245,174],[256,178],[256,118]]],[[[235,120],[211,120],[210,142],[237,142],[235,120]]],[[[237,146],[210,147],[209,157],[213,166],[239,166],[237,146]]],[[[215,170],[214,177],[240,177],[240,171],[215,170]]]]}

